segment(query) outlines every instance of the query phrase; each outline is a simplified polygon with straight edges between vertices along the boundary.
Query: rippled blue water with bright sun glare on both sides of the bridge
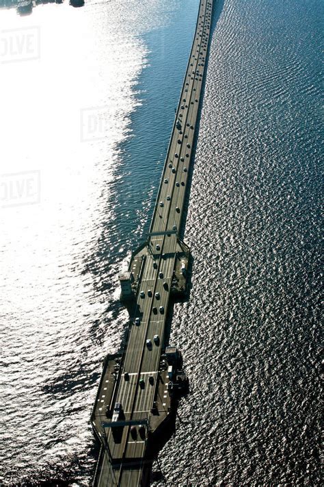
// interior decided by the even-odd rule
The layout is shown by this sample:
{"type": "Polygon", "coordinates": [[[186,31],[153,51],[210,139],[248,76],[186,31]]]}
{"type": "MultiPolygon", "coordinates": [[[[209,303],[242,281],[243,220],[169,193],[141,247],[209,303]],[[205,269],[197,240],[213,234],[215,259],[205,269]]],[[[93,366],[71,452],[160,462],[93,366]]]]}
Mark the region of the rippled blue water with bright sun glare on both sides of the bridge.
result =
{"type": "MultiPolygon", "coordinates": [[[[2,36],[37,27],[40,47],[0,62],[5,485],[91,483],[100,364],[127,322],[118,271],[148,229],[197,9],[0,11],[2,36]]],[[[320,485],[321,16],[319,0],[217,2],[193,288],[172,321],[191,392],[156,486],[320,485]]]]}

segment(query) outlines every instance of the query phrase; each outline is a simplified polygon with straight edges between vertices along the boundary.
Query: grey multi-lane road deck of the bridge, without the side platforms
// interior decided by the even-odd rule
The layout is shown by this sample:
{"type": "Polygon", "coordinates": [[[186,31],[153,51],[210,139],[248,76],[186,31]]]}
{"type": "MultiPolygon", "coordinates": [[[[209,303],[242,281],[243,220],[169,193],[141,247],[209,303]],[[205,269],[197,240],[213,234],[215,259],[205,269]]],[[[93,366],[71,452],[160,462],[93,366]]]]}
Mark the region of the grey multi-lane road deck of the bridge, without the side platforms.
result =
{"type": "MultiPolygon", "coordinates": [[[[172,228],[180,228],[202,94],[212,7],[213,0],[200,1],[195,37],[165,159],[150,232],[161,233],[172,228]],[[181,127],[176,121],[180,121],[181,127]]],[[[178,240],[176,234],[152,235],[149,237],[148,245],[150,245],[150,252],[147,251],[137,289],[136,316],[141,318],[141,322],[139,326],[131,326],[122,364],[122,375],[116,393],[116,402],[122,403],[125,420],[149,419],[154,397],[158,395],[159,361],[164,345],[165,317],[170,299],[178,240]],[[157,245],[159,245],[159,250],[157,250],[157,245]],[[160,273],[163,277],[159,277],[160,273]],[[167,286],[163,283],[167,283],[167,286]],[[152,291],[152,297],[148,297],[148,290],[152,291]],[[144,291],[144,298],[140,297],[141,291],[144,291]],[[155,297],[157,292],[159,297],[155,297]],[[161,306],[164,311],[160,311],[161,306]],[[154,343],[153,337],[156,334],[159,335],[160,340],[154,343]],[[150,348],[146,346],[147,339],[152,342],[150,348]],[[129,373],[129,379],[124,379],[124,372],[129,373]],[[149,380],[150,376],[152,377],[149,380]],[[139,384],[140,379],[144,379],[144,386],[139,384]]],[[[145,253],[145,249],[141,250],[141,253],[143,252],[145,253]]],[[[126,460],[133,458],[140,461],[140,458],[144,458],[146,438],[139,434],[135,438],[132,437],[130,429],[130,426],[123,427],[122,432],[118,435],[113,432],[112,428],[105,429],[111,458],[122,466],[120,471],[113,473],[111,466],[105,465],[108,455],[103,455],[102,473],[96,482],[99,486],[113,485],[112,475],[120,479],[120,485],[136,486],[140,484],[141,469],[127,469],[126,460]],[[110,475],[110,480],[108,475],[110,475]]]]}

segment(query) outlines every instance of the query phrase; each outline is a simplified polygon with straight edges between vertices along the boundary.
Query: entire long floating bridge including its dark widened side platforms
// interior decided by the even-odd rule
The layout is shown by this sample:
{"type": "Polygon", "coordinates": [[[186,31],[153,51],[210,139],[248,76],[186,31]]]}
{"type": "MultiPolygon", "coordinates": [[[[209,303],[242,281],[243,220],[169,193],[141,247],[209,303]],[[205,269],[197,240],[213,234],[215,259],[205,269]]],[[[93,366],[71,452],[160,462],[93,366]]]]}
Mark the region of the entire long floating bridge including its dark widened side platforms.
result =
{"type": "Polygon", "coordinates": [[[213,0],[201,0],[148,239],[120,275],[131,321],[126,347],[107,355],[91,421],[100,442],[94,486],[150,485],[156,445],[174,419],[187,377],[180,351],[167,343],[172,299],[187,295],[190,251],[180,240],[193,164],[213,0]]]}

